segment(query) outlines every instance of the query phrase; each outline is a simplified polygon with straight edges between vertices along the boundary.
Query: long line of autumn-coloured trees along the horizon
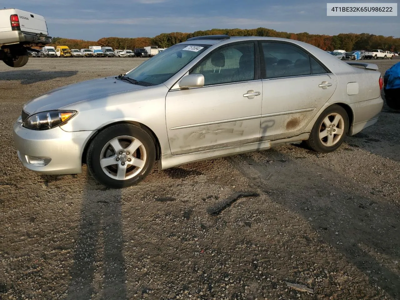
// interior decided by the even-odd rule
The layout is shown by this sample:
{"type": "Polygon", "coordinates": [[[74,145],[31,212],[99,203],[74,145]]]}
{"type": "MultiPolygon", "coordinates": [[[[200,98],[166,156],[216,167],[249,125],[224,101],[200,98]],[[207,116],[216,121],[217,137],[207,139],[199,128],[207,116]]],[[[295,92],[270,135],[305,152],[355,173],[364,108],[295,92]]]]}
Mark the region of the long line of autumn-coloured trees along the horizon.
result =
{"type": "Polygon", "coordinates": [[[168,48],[174,44],[184,42],[194,36],[203,36],[210,34],[228,34],[229,36],[270,36],[277,38],[290,38],[312,44],[323,50],[372,50],[382,49],[389,51],[400,51],[400,38],[393,36],[382,36],[368,33],[341,33],[334,36],[323,34],[309,34],[308,32],[289,33],[279,32],[268,28],[256,29],[211,29],[205,31],[196,31],[192,33],[170,32],[162,33],[154,38],[118,38],[108,37],[100,38],[98,41],[74,40],[68,38],[53,38],[51,46],[66,45],[70,49],[82,49],[89,46],[108,46],[113,49],[134,49],[146,46],[158,46],[159,48],[168,48]]]}

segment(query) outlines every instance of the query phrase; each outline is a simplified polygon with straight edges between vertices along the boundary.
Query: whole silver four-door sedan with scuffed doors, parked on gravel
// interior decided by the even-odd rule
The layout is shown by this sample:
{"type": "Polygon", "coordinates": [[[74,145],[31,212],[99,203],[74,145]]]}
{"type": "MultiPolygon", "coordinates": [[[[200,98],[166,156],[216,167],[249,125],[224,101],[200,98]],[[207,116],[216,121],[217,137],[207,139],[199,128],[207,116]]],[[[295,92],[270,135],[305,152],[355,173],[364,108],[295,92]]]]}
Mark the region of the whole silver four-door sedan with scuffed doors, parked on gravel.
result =
{"type": "Polygon", "coordinates": [[[203,36],[121,74],[52,90],[14,124],[22,164],[123,188],[188,162],[305,141],[318,152],[376,123],[375,64],[296,40],[203,36]]]}

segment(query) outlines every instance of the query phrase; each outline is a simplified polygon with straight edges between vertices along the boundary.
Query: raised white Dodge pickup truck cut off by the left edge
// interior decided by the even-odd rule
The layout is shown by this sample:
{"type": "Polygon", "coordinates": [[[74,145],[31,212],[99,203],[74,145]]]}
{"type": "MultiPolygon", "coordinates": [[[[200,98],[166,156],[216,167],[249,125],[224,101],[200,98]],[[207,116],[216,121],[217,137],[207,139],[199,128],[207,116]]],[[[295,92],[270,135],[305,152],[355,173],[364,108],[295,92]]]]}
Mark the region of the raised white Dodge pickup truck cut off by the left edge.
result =
{"type": "Polygon", "coordinates": [[[29,59],[28,50],[34,46],[45,46],[52,41],[48,36],[43,16],[16,8],[0,9],[0,60],[18,68],[29,59]]]}

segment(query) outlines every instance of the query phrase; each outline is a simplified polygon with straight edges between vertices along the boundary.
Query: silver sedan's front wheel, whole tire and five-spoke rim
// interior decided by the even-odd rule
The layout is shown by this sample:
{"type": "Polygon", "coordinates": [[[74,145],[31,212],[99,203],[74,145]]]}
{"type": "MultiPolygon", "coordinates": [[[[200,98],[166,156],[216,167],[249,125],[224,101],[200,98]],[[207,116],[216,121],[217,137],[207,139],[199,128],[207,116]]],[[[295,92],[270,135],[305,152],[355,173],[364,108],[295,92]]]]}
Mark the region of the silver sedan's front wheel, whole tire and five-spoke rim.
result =
{"type": "Polygon", "coordinates": [[[133,124],[117,124],[92,140],[86,163],[100,184],[124,188],[142,181],[150,173],[155,158],[154,142],[145,130],[133,124]]]}

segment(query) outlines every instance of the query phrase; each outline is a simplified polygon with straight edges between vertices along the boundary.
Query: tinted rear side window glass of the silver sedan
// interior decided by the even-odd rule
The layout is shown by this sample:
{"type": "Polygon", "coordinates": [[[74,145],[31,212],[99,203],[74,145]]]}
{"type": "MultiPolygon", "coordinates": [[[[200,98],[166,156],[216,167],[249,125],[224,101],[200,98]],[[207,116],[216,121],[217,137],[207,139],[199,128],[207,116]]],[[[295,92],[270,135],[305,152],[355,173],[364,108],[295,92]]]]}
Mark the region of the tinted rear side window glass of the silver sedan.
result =
{"type": "Polygon", "coordinates": [[[326,70],[306,52],[284,43],[262,43],[266,78],[324,74],[326,70]]]}

